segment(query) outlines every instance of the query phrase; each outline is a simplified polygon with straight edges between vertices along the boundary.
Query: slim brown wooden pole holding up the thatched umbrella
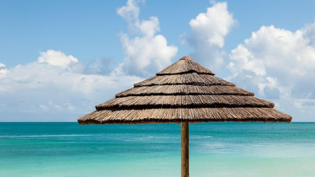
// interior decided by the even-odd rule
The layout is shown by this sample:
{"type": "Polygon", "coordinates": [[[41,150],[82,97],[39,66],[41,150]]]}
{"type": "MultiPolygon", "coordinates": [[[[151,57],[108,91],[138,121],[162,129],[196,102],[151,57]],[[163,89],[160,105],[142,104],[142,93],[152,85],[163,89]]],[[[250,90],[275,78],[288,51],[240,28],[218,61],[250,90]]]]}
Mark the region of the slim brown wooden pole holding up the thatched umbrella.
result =
{"type": "Polygon", "coordinates": [[[189,127],[188,122],[181,122],[181,177],[189,177],[189,127]]]}

